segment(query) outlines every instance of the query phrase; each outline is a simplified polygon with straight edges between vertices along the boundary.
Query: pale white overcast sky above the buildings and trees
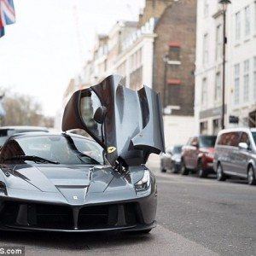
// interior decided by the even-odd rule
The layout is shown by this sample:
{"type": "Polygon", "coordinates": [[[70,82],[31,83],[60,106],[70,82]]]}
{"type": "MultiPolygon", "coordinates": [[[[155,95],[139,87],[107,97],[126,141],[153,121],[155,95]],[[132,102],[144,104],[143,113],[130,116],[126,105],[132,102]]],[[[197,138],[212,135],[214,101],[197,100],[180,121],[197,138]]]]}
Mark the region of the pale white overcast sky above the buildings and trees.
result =
{"type": "Polygon", "coordinates": [[[14,0],[16,23],[0,38],[0,89],[33,96],[55,116],[96,33],[136,20],[144,0],[14,0]]]}

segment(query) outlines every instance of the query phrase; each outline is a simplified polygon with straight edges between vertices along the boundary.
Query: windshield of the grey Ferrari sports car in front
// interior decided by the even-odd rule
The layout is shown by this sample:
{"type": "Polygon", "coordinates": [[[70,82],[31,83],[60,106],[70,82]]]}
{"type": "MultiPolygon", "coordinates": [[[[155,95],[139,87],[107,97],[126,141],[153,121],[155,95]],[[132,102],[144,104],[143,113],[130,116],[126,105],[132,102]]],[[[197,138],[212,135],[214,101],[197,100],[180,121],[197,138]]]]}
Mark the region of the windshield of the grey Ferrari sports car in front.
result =
{"type": "MultiPolygon", "coordinates": [[[[36,156],[65,165],[102,164],[102,148],[93,141],[68,135],[17,137],[2,149],[1,163],[20,163],[36,156]]],[[[36,161],[37,162],[37,161],[36,161]]],[[[44,163],[47,163],[45,161],[44,163]]],[[[49,163],[49,162],[48,162],[49,163]]]]}

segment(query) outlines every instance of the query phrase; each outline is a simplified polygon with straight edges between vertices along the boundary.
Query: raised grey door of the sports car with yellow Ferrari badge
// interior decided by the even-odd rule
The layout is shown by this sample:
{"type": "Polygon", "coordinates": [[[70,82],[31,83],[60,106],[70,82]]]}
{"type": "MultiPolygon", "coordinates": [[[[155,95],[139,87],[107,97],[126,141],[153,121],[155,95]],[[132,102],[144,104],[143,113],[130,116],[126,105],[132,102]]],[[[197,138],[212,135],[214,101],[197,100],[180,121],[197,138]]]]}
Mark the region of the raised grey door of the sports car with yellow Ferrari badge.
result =
{"type": "Polygon", "coordinates": [[[131,90],[109,76],[89,89],[78,90],[67,102],[62,131],[84,129],[106,150],[112,166],[145,164],[151,153],[165,151],[160,96],[143,86],[131,90]],[[96,123],[97,108],[106,109],[103,124],[96,123]],[[103,131],[103,132],[102,132],[103,131]]]}

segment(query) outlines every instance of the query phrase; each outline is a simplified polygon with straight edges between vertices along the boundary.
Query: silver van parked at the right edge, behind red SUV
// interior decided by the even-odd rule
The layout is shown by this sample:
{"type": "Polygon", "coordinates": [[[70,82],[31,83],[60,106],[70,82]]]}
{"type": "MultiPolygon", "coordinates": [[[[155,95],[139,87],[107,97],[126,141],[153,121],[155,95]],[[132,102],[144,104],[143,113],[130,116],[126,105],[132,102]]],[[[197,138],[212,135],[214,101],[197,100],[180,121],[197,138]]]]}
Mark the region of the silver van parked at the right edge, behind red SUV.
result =
{"type": "Polygon", "coordinates": [[[250,185],[255,185],[256,128],[219,131],[213,166],[218,181],[234,176],[247,178],[250,185]]]}

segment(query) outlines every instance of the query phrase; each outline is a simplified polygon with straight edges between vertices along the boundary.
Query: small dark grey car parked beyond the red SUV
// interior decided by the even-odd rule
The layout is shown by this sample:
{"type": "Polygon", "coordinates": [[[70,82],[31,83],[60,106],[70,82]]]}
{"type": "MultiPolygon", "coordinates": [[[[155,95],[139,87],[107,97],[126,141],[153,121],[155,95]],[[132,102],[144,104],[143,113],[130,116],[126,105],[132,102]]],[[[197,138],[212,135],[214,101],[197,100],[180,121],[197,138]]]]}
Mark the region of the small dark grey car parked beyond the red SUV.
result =
{"type": "Polygon", "coordinates": [[[160,171],[171,170],[173,173],[179,172],[182,145],[174,145],[166,148],[166,153],[160,155],[160,171]]]}

